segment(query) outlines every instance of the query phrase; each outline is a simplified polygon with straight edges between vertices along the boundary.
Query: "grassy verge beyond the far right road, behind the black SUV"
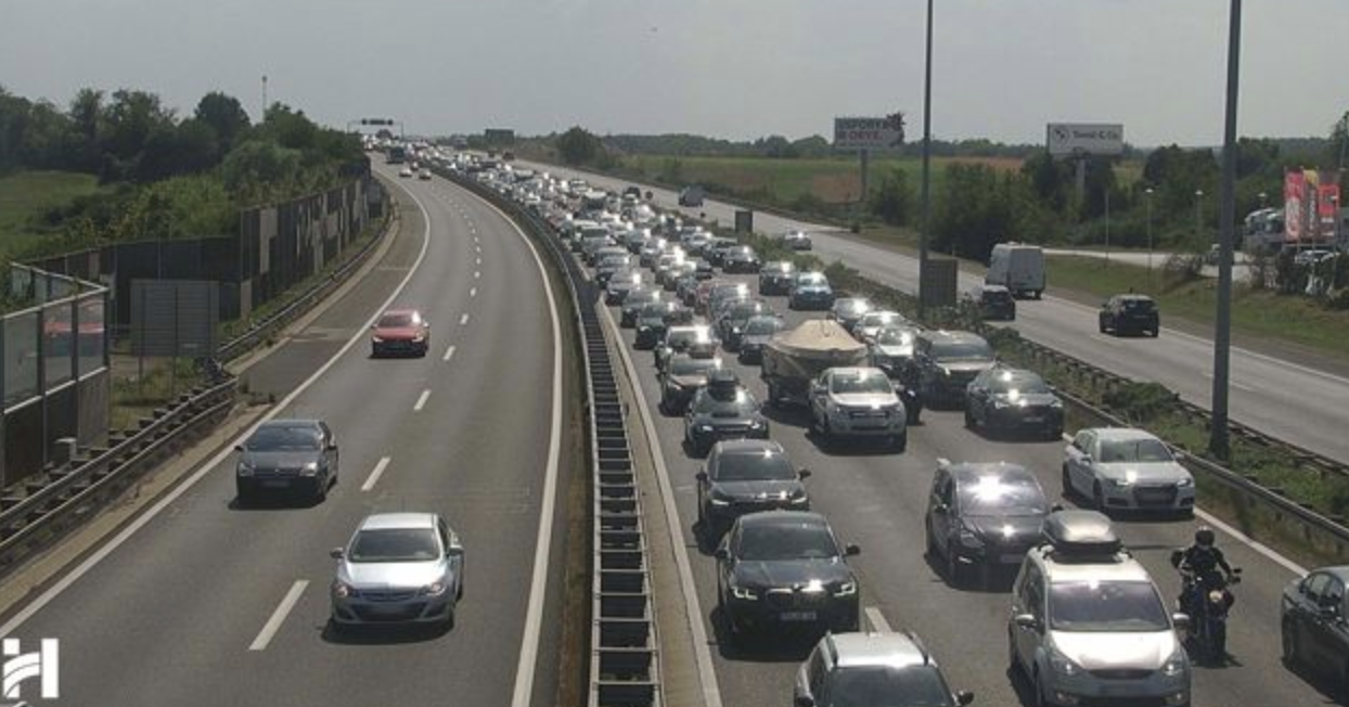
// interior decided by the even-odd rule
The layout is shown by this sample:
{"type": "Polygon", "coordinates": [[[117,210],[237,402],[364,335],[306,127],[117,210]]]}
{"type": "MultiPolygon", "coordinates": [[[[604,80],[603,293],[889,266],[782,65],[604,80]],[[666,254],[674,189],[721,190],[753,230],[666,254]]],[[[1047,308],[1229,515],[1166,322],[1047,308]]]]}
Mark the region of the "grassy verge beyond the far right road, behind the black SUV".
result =
{"type": "MultiPolygon", "coordinates": [[[[1047,259],[1051,287],[1077,290],[1105,300],[1129,287],[1151,294],[1161,310],[1163,327],[1170,317],[1211,324],[1217,310],[1215,279],[1205,278],[1163,287],[1161,277],[1145,267],[1101,258],[1058,256],[1047,259]]],[[[1234,286],[1232,331],[1237,336],[1272,339],[1307,347],[1319,354],[1349,360],[1345,332],[1349,312],[1325,309],[1307,297],[1276,295],[1271,291],[1234,286]]]]}

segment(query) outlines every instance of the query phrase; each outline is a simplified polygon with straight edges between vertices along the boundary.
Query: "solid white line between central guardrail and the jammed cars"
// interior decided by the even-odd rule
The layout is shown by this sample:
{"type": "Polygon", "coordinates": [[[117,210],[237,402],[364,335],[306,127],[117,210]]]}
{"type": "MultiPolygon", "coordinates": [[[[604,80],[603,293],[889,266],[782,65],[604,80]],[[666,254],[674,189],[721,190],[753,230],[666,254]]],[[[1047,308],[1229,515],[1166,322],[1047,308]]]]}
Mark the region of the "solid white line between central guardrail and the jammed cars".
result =
{"type": "Polygon", "coordinates": [[[665,506],[665,522],[669,524],[670,548],[674,550],[674,565],[679,569],[680,592],[684,595],[684,611],[688,614],[689,631],[693,634],[693,656],[697,661],[697,679],[703,685],[703,707],[722,707],[722,692],[716,685],[716,668],[712,665],[712,652],[708,648],[707,627],[703,626],[703,607],[697,599],[697,587],[693,586],[693,567],[688,561],[688,548],[684,546],[684,528],[679,522],[679,506],[674,505],[674,488],[670,486],[669,470],[665,467],[665,451],[661,448],[660,436],[656,433],[656,421],[652,418],[646,393],[638,379],[637,367],[627,354],[623,343],[623,332],[614,322],[614,314],[608,308],[602,308],[604,321],[608,322],[614,340],[618,341],[618,355],[623,360],[623,370],[633,385],[633,395],[637,398],[637,412],[642,417],[642,426],[646,430],[646,443],[652,448],[652,457],[656,463],[656,479],[661,487],[661,502],[665,506]]]}

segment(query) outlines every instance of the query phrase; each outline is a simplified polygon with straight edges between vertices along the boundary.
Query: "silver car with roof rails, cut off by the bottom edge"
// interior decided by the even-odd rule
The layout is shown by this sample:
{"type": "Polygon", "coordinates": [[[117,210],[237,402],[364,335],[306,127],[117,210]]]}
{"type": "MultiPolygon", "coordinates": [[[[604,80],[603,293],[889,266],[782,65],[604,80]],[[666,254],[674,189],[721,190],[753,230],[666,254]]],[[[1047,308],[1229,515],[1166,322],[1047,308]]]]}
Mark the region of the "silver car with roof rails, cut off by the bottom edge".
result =
{"type": "Polygon", "coordinates": [[[955,707],[974,694],[951,694],[942,669],[912,633],[826,634],[796,672],[796,707],[923,704],[955,707]]]}

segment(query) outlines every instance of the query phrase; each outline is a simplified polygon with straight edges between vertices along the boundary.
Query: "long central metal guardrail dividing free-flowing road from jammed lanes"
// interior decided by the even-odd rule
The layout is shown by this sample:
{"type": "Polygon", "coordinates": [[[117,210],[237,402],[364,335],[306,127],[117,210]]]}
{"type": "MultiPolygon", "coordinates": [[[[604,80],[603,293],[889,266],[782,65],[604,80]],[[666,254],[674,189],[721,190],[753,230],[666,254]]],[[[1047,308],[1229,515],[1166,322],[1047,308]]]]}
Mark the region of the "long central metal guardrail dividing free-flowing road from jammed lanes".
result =
{"type": "Polygon", "coordinates": [[[436,171],[482,196],[542,242],[567,275],[587,374],[592,483],[591,652],[588,707],[660,707],[661,661],[641,491],[614,362],[600,325],[599,293],[538,215],[491,189],[436,171]]]}

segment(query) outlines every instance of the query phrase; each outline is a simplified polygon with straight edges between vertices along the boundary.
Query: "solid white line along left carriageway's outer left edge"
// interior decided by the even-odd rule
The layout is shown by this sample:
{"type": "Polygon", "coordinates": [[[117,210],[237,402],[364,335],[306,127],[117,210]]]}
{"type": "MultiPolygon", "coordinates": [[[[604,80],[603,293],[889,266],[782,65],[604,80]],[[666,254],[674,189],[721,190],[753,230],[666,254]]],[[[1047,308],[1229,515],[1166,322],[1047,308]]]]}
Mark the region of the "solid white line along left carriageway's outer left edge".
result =
{"type": "Polygon", "coordinates": [[[297,386],[295,390],[290,391],[290,394],[282,398],[275,407],[268,410],[247,430],[235,437],[233,443],[227,444],[219,453],[216,453],[216,456],[210,457],[210,460],[202,464],[192,476],[188,476],[188,479],[181,482],[174,490],[169,491],[163,498],[159,499],[158,503],[150,506],[148,510],[136,517],[135,521],[127,525],[127,528],[124,528],[120,533],[117,533],[111,541],[108,541],[108,544],[94,550],[85,561],[80,563],[74,569],[71,569],[59,580],[57,580],[55,584],[53,584],[47,591],[42,592],[28,606],[19,610],[19,613],[16,613],[13,618],[7,621],[4,626],[0,626],[0,635],[13,635],[15,631],[20,626],[23,626],[26,621],[34,617],[34,614],[42,611],[47,604],[55,600],[55,598],[59,596],[61,592],[69,590],[71,584],[80,580],[80,577],[85,576],[98,563],[101,563],[109,555],[116,552],[116,549],[120,548],[121,544],[131,540],[131,536],[136,534],[142,528],[148,525],[150,521],[152,521],[156,515],[163,513],[163,510],[167,509],[171,503],[178,501],[179,497],[186,494],[188,490],[196,486],[197,482],[200,482],[206,474],[210,474],[210,471],[219,467],[221,461],[233,455],[236,445],[243,444],[243,441],[247,440],[248,436],[252,434],[254,430],[256,430],[263,422],[274,420],[278,414],[281,414],[282,410],[290,406],[290,403],[294,402],[295,398],[298,398],[301,394],[309,390],[309,387],[313,386],[314,382],[318,380],[318,378],[326,374],[329,368],[336,366],[337,362],[344,355],[347,355],[348,351],[351,351],[351,347],[356,345],[356,343],[364,343],[366,332],[375,325],[375,320],[379,318],[379,316],[394,304],[394,300],[397,300],[403,293],[403,289],[407,287],[409,282],[411,282],[413,275],[417,273],[417,268],[421,267],[421,263],[426,258],[426,251],[430,246],[430,215],[426,213],[426,206],[424,206],[421,200],[417,198],[417,196],[413,194],[406,186],[398,182],[393,183],[398,185],[399,189],[406,192],[407,196],[411,197],[414,202],[417,202],[417,208],[422,212],[422,247],[421,251],[417,254],[417,259],[413,262],[411,267],[407,268],[407,274],[403,275],[402,282],[399,282],[398,286],[394,287],[394,291],[390,293],[389,298],[384,300],[383,304],[376,306],[375,310],[370,314],[370,318],[366,320],[366,324],[357,327],[356,332],[352,333],[351,339],[348,339],[347,343],[340,349],[337,349],[336,354],[332,355],[331,359],[324,362],[324,364],[320,366],[318,370],[316,370],[313,374],[309,375],[309,378],[306,378],[302,383],[299,383],[299,386],[297,386]]]}

